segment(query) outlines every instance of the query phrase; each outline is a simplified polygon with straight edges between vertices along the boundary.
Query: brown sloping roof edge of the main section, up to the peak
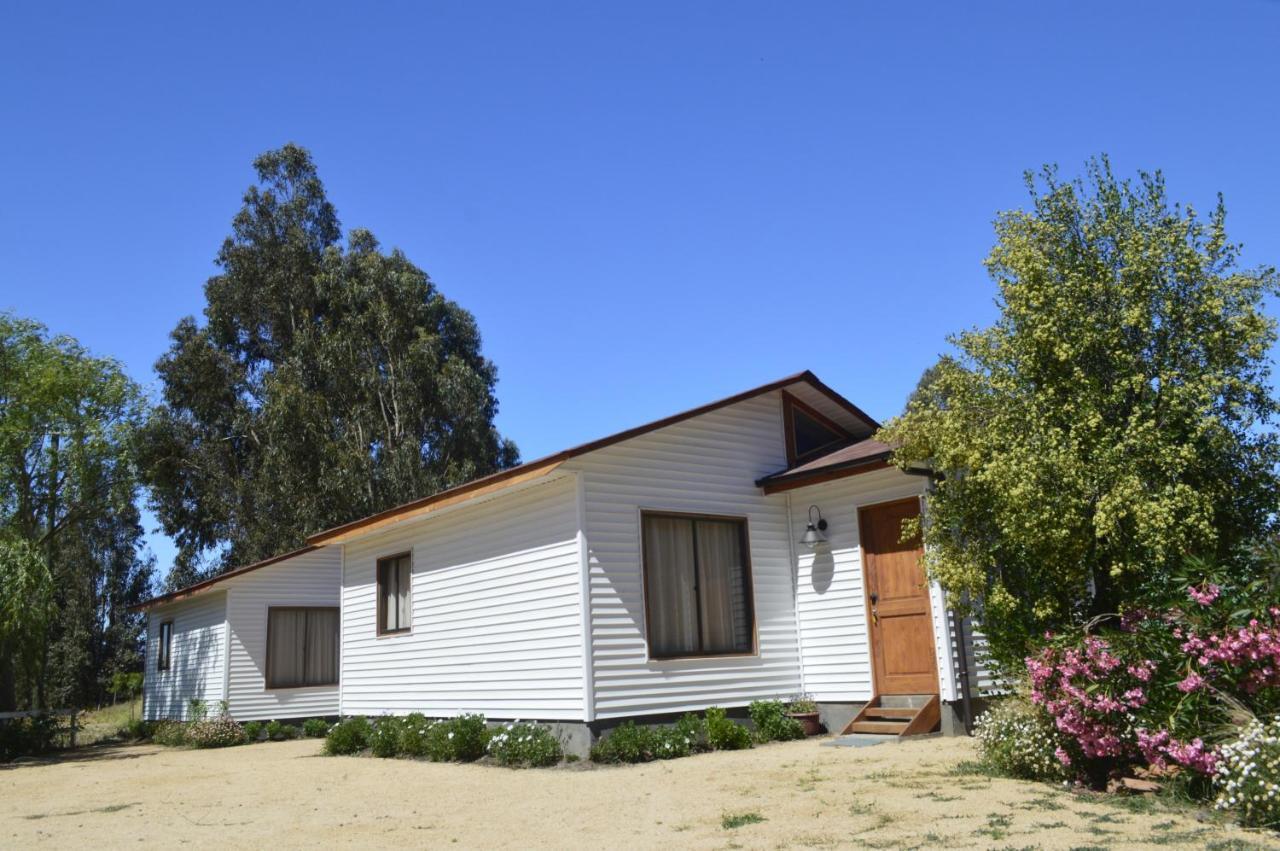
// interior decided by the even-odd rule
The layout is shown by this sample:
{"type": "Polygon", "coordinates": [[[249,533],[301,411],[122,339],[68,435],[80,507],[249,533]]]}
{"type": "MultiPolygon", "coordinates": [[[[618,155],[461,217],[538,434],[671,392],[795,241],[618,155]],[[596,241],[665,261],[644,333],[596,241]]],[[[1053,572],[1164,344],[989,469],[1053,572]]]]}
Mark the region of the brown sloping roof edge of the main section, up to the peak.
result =
{"type": "Polygon", "coordinates": [[[829,386],[818,380],[818,376],[805,370],[804,372],[797,372],[790,375],[785,379],[777,381],[771,381],[769,384],[762,384],[760,386],[751,388],[750,390],[744,390],[735,395],[719,399],[717,402],[710,402],[708,404],[691,408],[689,411],[682,411],[680,413],[673,413],[669,417],[663,417],[662,420],[654,420],[653,422],[636,426],[635,429],[627,429],[626,431],[620,431],[617,434],[609,435],[607,438],[600,438],[599,440],[593,440],[590,443],[584,443],[582,445],[573,447],[571,449],[563,449],[556,454],[539,458],[536,461],[530,461],[527,463],[520,465],[517,467],[511,467],[509,470],[502,470],[499,472],[484,476],[481,479],[475,479],[472,481],[465,482],[456,488],[449,488],[448,490],[442,490],[430,497],[424,497],[421,499],[415,499],[412,502],[404,503],[403,505],[397,505],[396,508],[389,508],[384,512],[376,514],[370,514],[361,520],[352,521],[349,523],[343,523],[342,526],[334,526],[333,529],[326,529],[323,532],[316,532],[307,539],[307,543],[315,546],[323,544],[334,544],[348,539],[349,536],[360,532],[376,529],[379,526],[385,526],[401,520],[407,520],[412,516],[420,516],[451,505],[463,499],[471,499],[474,497],[483,495],[485,493],[492,493],[500,490],[502,488],[516,484],[517,481],[526,481],[529,479],[545,476],[568,461],[570,458],[576,458],[577,456],[586,454],[588,452],[594,452],[596,449],[603,449],[604,447],[621,443],[623,440],[630,440],[631,438],[637,438],[643,434],[663,429],[669,425],[675,425],[684,420],[700,416],[703,413],[709,413],[718,408],[723,408],[730,404],[736,404],[739,402],[745,402],[753,397],[760,395],[763,393],[772,393],[773,390],[780,390],[791,384],[804,383],[828,397],[832,402],[842,407],[845,411],[851,413],[854,417],[861,420],[867,426],[874,431],[879,429],[879,424],[869,417],[861,408],[856,404],[840,395],[829,386]]]}

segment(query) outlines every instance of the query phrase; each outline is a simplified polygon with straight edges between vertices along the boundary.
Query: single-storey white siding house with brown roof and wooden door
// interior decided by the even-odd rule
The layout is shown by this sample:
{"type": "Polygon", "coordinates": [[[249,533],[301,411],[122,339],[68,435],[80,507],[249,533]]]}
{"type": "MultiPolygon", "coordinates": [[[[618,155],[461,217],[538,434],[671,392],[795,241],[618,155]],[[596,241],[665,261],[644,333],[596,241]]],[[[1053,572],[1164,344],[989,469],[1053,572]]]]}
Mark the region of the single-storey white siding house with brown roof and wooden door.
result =
{"type": "Polygon", "coordinates": [[[808,692],[837,732],[948,726],[980,637],[900,541],[928,479],[876,429],[803,372],[320,532],[147,604],[146,717],[594,733],[808,692]]]}

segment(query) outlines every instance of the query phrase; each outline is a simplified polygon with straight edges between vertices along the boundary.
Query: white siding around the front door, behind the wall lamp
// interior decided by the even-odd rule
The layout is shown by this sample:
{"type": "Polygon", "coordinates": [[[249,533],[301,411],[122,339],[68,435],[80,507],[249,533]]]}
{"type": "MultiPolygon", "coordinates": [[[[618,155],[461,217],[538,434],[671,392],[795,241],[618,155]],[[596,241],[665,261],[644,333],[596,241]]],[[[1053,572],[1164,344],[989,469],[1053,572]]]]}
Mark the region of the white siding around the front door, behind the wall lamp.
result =
{"type": "MultiPolygon", "coordinates": [[[[809,522],[809,505],[827,520],[829,545],[799,548],[796,610],[805,691],[814,700],[860,703],[874,695],[870,646],[867,637],[867,603],[863,596],[863,561],[858,530],[861,505],[919,497],[924,481],[897,470],[877,470],[832,482],[797,488],[791,495],[791,534],[799,539],[809,522]]],[[[938,655],[942,696],[947,697],[950,649],[942,594],[929,595],[933,608],[934,651],[938,655]]]]}

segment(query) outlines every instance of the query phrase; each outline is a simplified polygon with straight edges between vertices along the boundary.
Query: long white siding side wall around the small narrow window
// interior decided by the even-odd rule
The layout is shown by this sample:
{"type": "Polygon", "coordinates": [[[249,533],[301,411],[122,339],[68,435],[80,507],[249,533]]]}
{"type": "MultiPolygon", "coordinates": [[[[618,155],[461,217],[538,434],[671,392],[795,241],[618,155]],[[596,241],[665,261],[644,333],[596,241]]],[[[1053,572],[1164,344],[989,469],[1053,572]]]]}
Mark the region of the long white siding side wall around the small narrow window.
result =
{"type": "Polygon", "coordinates": [[[580,720],[582,607],[573,476],[346,545],[342,713],[580,720]],[[412,631],[376,635],[375,564],[412,552],[412,631]]]}

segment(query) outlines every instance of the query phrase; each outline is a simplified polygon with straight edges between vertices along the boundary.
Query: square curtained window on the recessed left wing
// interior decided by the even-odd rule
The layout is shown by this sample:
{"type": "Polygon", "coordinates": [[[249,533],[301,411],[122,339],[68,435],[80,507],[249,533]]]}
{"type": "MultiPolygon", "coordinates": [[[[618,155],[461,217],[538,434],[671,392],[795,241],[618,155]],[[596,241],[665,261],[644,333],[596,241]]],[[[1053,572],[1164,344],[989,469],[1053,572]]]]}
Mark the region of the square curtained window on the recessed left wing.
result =
{"type": "Polygon", "coordinates": [[[338,609],[278,607],[266,610],[266,687],[338,682],[338,609]]]}

